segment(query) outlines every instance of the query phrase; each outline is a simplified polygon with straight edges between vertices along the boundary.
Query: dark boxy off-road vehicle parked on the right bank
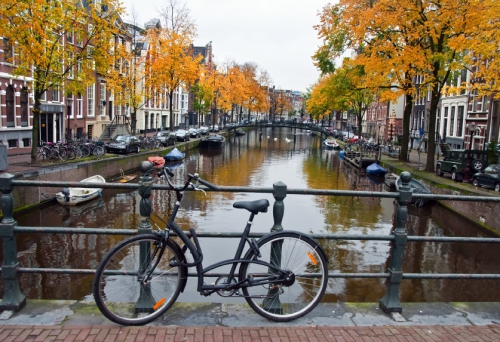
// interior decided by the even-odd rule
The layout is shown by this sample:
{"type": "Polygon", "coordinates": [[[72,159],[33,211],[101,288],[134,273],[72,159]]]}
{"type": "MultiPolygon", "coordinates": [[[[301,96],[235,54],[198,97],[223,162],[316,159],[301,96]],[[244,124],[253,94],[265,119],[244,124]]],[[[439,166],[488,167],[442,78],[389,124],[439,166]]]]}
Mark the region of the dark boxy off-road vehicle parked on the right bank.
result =
{"type": "MultiPolygon", "coordinates": [[[[445,173],[451,174],[454,181],[462,181],[467,167],[467,155],[469,150],[448,150],[444,159],[439,160],[436,165],[436,175],[442,177],[445,173]]],[[[488,165],[488,152],[483,150],[471,150],[471,172],[480,172],[488,165]]]]}

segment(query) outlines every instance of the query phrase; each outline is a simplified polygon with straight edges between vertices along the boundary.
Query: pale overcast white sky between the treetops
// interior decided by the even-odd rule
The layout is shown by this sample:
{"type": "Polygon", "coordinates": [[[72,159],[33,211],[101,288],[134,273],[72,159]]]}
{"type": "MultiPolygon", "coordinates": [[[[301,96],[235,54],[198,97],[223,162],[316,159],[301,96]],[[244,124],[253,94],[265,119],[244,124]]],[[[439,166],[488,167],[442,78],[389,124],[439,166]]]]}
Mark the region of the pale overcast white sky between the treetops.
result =
{"type": "MultiPolygon", "coordinates": [[[[320,44],[313,25],[327,0],[185,0],[196,22],[195,45],[212,41],[216,62],[254,62],[276,88],[305,91],[319,72],[311,56],[320,44]]],[[[165,0],[124,0],[137,22],[159,18],[165,0]]]]}

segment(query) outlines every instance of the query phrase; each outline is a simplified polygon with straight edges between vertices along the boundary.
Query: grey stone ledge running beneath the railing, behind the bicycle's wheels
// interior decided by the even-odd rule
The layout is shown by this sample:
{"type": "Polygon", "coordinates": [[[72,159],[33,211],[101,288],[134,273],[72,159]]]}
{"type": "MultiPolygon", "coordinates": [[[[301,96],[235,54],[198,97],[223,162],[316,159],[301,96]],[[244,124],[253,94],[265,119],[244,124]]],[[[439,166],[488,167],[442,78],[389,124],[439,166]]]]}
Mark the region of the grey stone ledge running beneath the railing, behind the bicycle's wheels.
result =
{"type": "MultiPolygon", "coordinates": [[[[257,315],[244,301],[176,302],[148,326],[404,326],[404,325],[489,325],[500,324],[499,302],[402,303],[402,313],[384,313],[378,303],[320,303],[305,317],[278,323],[257,315]]],[[[1,316],[4,316],[2,314],[1,316]]],[[[0,319],[0,325],[118,326],[106,319],[94,301],[27,300],[18,312],[0,319]]]]}

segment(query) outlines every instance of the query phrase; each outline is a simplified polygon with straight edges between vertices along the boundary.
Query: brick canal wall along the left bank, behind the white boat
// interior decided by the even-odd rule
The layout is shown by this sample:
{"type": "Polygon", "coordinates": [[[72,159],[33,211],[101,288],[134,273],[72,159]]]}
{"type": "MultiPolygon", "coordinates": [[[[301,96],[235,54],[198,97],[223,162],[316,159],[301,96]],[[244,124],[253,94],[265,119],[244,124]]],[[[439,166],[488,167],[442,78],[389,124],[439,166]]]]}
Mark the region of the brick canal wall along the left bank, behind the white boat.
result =
{"type": "MultiPolygon", "coordinates": [[[[93,175],[101,175],[110,181],[122,171],[136,171],[142,161],[151,156],[164,156],[174,147],[185,152],[198,147],[199,139],[171,146],[164,150],[146,151],[137,154],[116,155],[111,158],[87,162],[64,163],[51,167],[40,167],[15,174],[15,179],[33,181],[79,182],[93,175]]],[[[52,203],[54,195],[61,189],[53,187],[16,186],[12,191],[14,197],[14,213],[20,214],[34,207],[52,203]]],[[[1,192],[0,192],[1,193],[1,192]]],[[[0,215],[1,217],[1,215],[0,215]]]]}

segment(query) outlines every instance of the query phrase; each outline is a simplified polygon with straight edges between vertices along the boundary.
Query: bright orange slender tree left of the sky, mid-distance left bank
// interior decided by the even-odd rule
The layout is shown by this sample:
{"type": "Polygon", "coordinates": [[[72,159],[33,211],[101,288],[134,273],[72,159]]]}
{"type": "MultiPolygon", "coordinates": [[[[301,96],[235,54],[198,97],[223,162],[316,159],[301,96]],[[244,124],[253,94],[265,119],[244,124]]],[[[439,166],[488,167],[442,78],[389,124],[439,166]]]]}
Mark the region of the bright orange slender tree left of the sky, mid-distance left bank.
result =
{"type": "Polygon", "coordinates": [[[194,85],[200,77],[202,56],[193,56],[191,37],[170,29],[148,31],[150,49],[146,59],[146,88],[151,96],[166,93],[169,98],[170,129],[173,129],[174,91],[194,85]]]}

